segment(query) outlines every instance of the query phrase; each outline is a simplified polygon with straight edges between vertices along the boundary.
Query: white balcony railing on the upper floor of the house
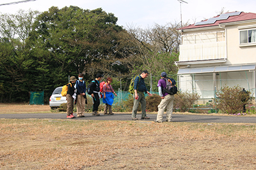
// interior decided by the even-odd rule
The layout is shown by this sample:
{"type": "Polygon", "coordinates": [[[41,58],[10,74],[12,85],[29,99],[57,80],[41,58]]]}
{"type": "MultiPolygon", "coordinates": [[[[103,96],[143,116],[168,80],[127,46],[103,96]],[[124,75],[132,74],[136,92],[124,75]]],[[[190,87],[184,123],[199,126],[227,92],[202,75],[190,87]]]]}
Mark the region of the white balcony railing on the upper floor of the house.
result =
{"type": "Polygon", "coordinates": [[[226,58],[225,41],[180,45],[179,61],[211,60],[226,58]]]}

